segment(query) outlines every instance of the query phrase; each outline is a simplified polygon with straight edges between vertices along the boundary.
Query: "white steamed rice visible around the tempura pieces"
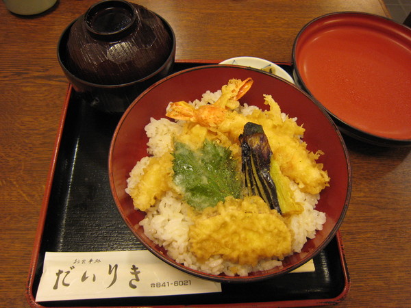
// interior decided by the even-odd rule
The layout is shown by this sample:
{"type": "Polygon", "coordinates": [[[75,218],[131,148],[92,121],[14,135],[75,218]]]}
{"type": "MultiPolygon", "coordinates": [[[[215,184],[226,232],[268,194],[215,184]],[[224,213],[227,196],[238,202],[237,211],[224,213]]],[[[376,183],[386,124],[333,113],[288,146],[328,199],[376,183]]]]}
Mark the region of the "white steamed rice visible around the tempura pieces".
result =
{"type": "MultiPolygon", "coordinates": [[[[196,100],[192,105],[199,107],[206,103],[214,103],[221,95],[221,91],[206,92],[203,94],[201,101],[196,100]]],[[[246,104],[240,107],[238,112],[242,114],[251,114],[256,109],[256,106],[247,106],[246,104]]],[[[286,115],[283,114],[283,118],[286,115]]],[[[151,122],[145,127],[149,142],[147,144],[147,153],[149,155],[162,155],[163,153],[173,150],[173,134],[182,131],[182,121],[172,122],[166,118],[155,120],[151,118],[151,122]]],[[[140,160],[130,172],[130,177],[127,180],[126,192],[133,188],[142,170],[148,164],[148,157],[140,160]]],[[[297,184],[292,182],[292,190],[294,191],[296,201],[303,203],[304,211],[299,215],[294,215],[288,219],[288,227],[292,231],[292,251],[299,253],[308,238],[314,238],[316,230],[321,230],[325,223],[325,213],[315,209],[316,203],[319,200],[319,195],[306,194],[301,192],[297,184]]],[[[192,220],[188,216],[188,207],[182,201],[180,196],[173,192],[166,192],[164,197],[158,201],[155,206],[147,210],[146,217],[140,222],[144,228],[145,235],[166,249],[169,257],[175,259],[178,263],[184,264],[188,268],[200,270],[208,274],[224,273],[229,276],[238,274],[247,276],[249,272],[259,270],[269,270],[276,266],[282,266],[282,261],[278,259],[260,260],[257,266],[244,266],[232,264],[225,261],[221,256],[213,256],[210,260],[200,263],[195,255],[190,253],[188,247],[188,229],[192,220]]]]}

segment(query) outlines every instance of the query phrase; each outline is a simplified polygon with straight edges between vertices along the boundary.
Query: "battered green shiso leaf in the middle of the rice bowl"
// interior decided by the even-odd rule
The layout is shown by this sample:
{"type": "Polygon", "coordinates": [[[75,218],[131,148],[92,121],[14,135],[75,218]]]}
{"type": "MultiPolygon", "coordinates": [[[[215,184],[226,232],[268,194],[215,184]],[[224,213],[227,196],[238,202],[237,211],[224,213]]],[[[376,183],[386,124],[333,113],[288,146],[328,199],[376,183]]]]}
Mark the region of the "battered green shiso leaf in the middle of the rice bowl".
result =
{"type": "Polygon", "coordinates": [[[189,205],[201,211],[226,196],[240,198],[242,179],[229,149],[210,140],[197,151],[182,142],[175,142],[174,147],[173,181],[189,205]]]}

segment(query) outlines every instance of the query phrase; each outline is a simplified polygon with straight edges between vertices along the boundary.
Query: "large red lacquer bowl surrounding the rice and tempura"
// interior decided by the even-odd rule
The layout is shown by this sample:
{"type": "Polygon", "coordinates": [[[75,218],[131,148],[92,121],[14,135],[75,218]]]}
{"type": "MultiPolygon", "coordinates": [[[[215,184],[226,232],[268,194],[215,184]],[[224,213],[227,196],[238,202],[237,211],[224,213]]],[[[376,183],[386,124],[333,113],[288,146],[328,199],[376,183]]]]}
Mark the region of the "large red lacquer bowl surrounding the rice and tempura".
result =
{"type": "Polygon", "coordinates": [[[129,229],[151,253],[166,263],[189,274],[204,279],[221,282],[249,282],[268,279],[293,270],[319,253],[332,238],[343,222],[351,194],[351,168],[343,138],[329,116],[318,103],[299,90],[296,86],[269,73],[241,66],[201,66],[175,73],[151,86],[130,105],[116,127],[109,155],[109,178],[114,201],[129,229]],[[319,159],[331,177],[330,187],[321,192],[321,199],[316,209],[324,211],[327,221],[323,230],[317,231],[316,237],[303,246],[301,253],[286,257],[282,268],[264,272],[253,272],[248,277],[228,277],[223,274],[212,275],[191,270],[178,264],[166,255],[163,248],[149,240],[138,223],[145,213],[134,209],[132,198],[125,192],[126,179],[136,162],[147,156],[148,138],[144,127],[151,117],[165,117],[165,108],[170,101],[192,101],[201,99],[201,94],[210,90],[221,89],[232,78],[251,77],[254,84],[242,97],[251,105],[266,108],[263,94],[272,94],[282,111],[292,117],[297,116],[297,123],[306,128],[304,140],[308,149],[325,152],[319,159]]]}

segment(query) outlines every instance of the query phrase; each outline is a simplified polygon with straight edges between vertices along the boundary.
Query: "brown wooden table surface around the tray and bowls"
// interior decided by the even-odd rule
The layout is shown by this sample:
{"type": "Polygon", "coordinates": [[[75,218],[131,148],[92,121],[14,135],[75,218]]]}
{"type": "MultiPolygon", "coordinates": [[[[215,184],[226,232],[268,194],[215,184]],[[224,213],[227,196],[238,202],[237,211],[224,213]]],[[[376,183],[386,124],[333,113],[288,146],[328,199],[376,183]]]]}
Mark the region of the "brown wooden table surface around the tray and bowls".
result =
{"type": "MultiPolygon", "coordinates": [[[[95,1],[61,0],[22,17],[0,5],[0,305],[27,305],[25,284],[67,81],[56,59],[64,28],[95,1]]],[[[290,62],[308,21],[329,12],[388,16],[379,0],[140,1],[177,37],[177,62],[238,55],[290,62]]],[[[341,235],[351,290],[342,307],[411,306],[410,148],[346,139],[353,171],[341,235]]]]}

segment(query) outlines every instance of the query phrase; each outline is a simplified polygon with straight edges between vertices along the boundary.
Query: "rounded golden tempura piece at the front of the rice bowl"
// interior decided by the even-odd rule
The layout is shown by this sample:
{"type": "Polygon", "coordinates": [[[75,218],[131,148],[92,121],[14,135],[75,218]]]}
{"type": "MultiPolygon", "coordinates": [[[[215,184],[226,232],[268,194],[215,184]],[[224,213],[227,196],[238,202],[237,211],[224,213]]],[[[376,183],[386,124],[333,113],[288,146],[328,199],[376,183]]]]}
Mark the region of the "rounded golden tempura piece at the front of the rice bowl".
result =
{"type": "Polygon", "coordinates": [[[244,200],[227,197],[194,218],[189,238],[200,260],[221,255],[238,264],[256,266],[258,260],[291,253],[291,233],[282,216],[259,196],[244,200]]]}

